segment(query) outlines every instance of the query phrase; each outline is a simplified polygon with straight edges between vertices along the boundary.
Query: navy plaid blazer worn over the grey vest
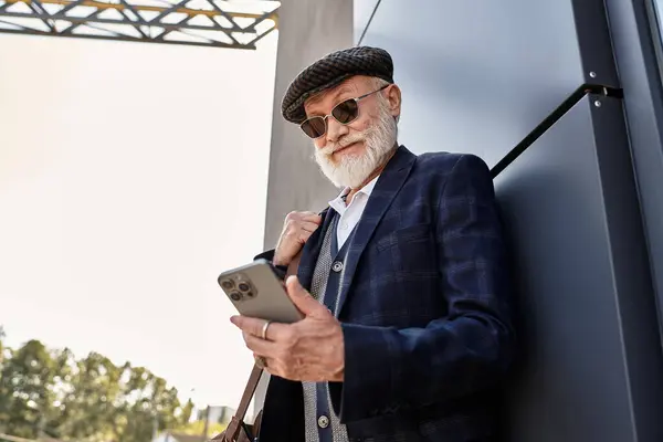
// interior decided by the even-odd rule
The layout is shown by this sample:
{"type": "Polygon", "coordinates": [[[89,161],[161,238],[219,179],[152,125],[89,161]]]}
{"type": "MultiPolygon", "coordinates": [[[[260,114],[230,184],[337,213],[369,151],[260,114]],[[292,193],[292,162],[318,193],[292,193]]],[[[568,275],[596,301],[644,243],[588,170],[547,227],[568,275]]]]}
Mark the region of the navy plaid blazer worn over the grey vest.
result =
{"type": "MultiPolygon", "coordinates": [[[[298,276],[306,288],[332,215],[325,209],[304,246],[298,276]]],[[[515,339],[485,162],[400,146],[356,227],[345,269],[345,373],[329,390],[350,441],[493,440],[496,392],[515,339]]],[[[299,382],[270,379],[260,433],[260,442],[304,441],[299,382]]]]}

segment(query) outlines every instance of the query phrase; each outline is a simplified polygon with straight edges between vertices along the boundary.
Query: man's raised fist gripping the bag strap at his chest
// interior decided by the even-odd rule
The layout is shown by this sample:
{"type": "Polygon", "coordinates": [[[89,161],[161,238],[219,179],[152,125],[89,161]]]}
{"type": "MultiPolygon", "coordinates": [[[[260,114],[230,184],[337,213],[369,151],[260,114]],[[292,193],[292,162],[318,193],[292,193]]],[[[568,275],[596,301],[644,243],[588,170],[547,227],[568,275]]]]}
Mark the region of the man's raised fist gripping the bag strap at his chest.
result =
{"type": "Polygon", "coordinates": [[[314,212],[290,212],[274,251],[274,264],[290,264],[322,221],[322,217],[314,212]]]}

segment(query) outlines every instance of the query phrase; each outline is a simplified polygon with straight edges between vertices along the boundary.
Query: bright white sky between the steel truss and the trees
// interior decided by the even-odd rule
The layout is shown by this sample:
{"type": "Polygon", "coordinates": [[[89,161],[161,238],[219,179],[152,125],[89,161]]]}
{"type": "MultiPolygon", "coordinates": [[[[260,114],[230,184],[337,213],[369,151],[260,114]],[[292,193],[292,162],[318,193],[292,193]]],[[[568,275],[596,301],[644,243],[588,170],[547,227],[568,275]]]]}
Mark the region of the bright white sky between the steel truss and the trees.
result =
{"type": "Polygon", "coordinates": [[[236,406],[252,358],[215,278],[262,251],[276,40],[0,34],[9,345],[98,351],[236,406]]]}

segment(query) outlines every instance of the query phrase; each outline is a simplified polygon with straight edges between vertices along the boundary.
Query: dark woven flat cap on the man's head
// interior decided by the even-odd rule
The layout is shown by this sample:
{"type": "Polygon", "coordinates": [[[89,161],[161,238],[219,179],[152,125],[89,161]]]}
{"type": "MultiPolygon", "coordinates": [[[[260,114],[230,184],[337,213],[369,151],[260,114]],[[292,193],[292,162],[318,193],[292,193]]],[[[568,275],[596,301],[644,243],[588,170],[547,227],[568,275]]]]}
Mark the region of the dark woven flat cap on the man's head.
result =
{"type": "Polygon", "coordinates": [[[332,52],[302,71],[290,84],[281,113],[292,123],[306,119],[304,102],[354,75],[375,76],[393,83],[393,62],[383,49],[355,46],[332,52]]]}

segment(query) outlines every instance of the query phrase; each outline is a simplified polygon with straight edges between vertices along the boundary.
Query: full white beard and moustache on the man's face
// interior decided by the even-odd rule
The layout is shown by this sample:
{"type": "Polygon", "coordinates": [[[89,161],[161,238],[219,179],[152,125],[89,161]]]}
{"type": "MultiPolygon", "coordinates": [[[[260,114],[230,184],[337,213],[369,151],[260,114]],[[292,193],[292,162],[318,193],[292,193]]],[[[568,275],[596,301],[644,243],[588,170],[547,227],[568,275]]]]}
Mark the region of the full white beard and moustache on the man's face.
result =
{"type": "Polygon", "coordinates": [[[339,188],[359,188],[396,148],[397,123],[387,104],[380,101],[378,123],[368,129],[343,137],[337,144],[315,150],[315,160],[325,176],[339,188]],[[354,143],[364,141],[361,155],[344,155],[338,164],[334,151],[354,143]]]}

